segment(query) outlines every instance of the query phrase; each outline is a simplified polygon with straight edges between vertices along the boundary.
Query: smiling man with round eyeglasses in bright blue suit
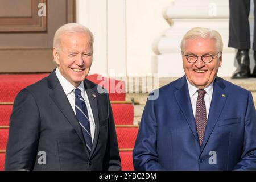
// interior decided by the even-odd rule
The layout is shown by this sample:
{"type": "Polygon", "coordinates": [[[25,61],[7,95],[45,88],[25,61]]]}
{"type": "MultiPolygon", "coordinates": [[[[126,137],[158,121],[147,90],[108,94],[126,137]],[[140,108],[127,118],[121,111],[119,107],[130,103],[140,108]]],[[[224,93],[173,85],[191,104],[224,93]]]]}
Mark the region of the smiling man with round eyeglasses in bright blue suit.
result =
{"type": "Polygon", "coordinates": [[[184,35],[185,75],[147,100],[133,151],[136,170],[256,169],[253,97],[217,77],[222,49],[217,31],[196,27],[184,35]]]}

